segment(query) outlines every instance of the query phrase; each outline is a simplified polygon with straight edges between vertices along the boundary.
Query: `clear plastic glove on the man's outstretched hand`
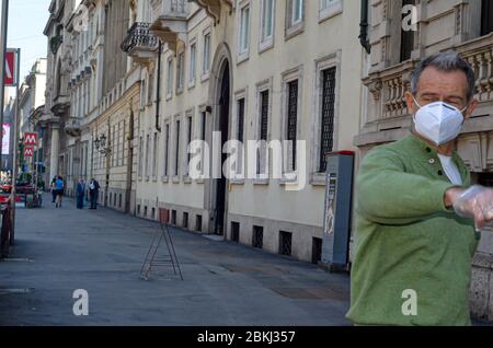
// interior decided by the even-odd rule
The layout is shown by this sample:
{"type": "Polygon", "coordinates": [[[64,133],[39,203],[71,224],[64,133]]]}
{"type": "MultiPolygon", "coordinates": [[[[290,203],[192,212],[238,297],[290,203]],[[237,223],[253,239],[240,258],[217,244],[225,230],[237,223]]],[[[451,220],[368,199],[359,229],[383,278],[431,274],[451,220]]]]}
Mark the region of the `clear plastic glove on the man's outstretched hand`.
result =
{"type": "Polygon", "coordinates": [[[454,202],[459,217],[474,220],[475,230],[493,224],[493,189],[474,185],[454,202]]]}

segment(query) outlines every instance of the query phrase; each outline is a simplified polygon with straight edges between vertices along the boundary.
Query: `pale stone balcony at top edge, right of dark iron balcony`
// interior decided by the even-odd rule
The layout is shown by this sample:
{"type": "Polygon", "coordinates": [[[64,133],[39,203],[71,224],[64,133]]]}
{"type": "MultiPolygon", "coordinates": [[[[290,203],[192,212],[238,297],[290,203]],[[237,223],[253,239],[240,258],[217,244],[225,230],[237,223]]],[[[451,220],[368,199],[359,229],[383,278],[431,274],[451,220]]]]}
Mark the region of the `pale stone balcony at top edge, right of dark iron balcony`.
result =
{"type": "Polygon", "coordinates": [[[186,42],[186,0],[151,0],[152,25],[150,32],[176,51],[179,40],[186,42]]]}

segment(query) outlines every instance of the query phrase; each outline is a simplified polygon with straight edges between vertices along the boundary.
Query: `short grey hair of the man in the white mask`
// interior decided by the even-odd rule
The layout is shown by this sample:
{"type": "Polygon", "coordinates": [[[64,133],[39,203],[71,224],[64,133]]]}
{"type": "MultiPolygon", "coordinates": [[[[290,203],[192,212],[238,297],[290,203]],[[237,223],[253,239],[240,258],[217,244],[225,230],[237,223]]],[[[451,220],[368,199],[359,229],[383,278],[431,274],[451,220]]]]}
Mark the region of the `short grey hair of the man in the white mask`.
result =
{"type": "Polygon", "coordinates": [[[420,82],[421,74],[428,68],[434,67],[438,71],[451,72],[451,71],[463,71],[468,78],[468,100],[474,96],[475,89],[475,77],[474,71],[471,66],[460,58],[460,56],[454,51],[447,51],[431,56],[423,59],[411,73],[411,93],[416,95],[417,84],[420,82]]]}

